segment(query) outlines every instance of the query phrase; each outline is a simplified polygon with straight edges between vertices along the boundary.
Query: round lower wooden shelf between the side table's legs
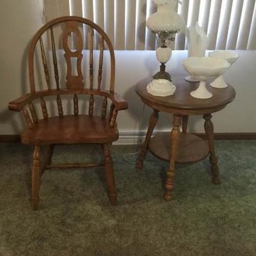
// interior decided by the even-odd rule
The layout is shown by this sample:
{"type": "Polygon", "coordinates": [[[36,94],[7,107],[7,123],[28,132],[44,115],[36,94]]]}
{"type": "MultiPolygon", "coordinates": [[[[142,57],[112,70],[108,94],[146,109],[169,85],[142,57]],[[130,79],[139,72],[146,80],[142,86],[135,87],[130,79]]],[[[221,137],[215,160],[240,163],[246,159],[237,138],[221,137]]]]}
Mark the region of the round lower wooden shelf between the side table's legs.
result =
{"type": "MultiPolygon", "coordinates": [[[[149,141],[149,150],[156,157],[169,161],[171,148],[170,132],[163,132],[152,137],[149,141]]],[[[208,143],[194,134],[180,133],[177,147],[177,163],[195,163],[209,154],[208,143]]]]}

